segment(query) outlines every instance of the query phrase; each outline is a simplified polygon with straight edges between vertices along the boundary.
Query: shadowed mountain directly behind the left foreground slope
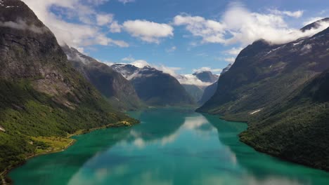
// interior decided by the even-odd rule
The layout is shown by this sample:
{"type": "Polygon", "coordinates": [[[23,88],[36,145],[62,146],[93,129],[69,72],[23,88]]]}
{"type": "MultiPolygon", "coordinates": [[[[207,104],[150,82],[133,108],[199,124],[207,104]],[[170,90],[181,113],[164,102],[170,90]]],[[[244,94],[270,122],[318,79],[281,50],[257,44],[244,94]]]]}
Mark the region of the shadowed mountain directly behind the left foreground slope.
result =
{"type": "Polygon", "coordinates": [[[136,110],[142,107],[134,86],[120,73],[75,48],[62,48],[73,67],[107,97],[113,107],[120,110],[136,110]]]}

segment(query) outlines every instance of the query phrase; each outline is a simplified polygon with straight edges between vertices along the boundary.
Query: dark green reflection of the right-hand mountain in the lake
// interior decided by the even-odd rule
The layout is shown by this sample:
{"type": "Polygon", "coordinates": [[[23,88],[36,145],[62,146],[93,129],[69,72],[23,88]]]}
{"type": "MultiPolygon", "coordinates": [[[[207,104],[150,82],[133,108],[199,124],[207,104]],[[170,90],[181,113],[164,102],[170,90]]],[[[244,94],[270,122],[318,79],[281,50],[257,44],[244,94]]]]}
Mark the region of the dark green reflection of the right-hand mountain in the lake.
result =
{"type": "MultiPolygon", "coordinates": [[[[217,116],[205,115],[205,118],[217,129],[219,141],[235,153],[237,163],[243,167],[243,172],[250,181],[247,184],[322,184],[328,180],[314,180],[313,169],[258,153],[240,142],[238,134],[247,128],[245,123],[219,120],[217,116]]],[[[328,174],[322,173],[323,177],[328,178],[328,174]]]]}

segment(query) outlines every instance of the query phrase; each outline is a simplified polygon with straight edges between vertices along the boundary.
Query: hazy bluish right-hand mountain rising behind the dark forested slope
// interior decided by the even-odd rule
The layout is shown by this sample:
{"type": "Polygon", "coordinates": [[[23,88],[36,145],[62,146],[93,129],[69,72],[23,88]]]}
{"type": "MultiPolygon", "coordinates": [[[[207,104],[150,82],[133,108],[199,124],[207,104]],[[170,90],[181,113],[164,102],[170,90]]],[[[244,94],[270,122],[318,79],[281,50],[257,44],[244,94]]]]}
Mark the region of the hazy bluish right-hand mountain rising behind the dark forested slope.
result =
{"type": "Polygon", "coordinates": [[[240,52],[231,69],[219,78],[214,96],[198,111],[247,121],[253,111],[282,101],[327,69],[328,47],[326,30],[278,45],[255,41],[240,52]]]}

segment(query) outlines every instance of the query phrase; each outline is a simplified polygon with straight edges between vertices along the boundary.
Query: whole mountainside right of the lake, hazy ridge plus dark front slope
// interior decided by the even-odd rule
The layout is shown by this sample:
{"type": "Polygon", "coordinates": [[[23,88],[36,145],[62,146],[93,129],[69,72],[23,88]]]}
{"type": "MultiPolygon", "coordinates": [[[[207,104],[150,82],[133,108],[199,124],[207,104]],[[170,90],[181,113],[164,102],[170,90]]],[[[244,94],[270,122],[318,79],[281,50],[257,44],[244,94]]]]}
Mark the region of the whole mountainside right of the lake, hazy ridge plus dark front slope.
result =
{"type": "Polygon", "coordinates": [[[259,151],[329,170],[328,48],[329,28],[290,43],[255,41],[198,111],[248,121],[241,140],[259,151]]]}

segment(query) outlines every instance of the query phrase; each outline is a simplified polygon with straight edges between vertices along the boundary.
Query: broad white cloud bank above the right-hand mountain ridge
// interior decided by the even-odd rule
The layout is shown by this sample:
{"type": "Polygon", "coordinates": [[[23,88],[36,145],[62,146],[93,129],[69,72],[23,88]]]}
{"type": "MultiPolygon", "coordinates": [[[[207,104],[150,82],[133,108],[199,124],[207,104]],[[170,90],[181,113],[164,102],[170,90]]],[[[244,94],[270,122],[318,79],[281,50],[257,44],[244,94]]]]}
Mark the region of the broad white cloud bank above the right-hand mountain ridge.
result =
{"type": "Polygon", "coordinates": [[[301,32],[288,27],[286,16],[302,16],[302,11],[275,11],[269,13],[253,13],[243,4],[233,3],[228,6],[220,20],[207,20],[199,16],[176,15],[173,24],[184,26],[193,36],[200,37],[201,43],[237,44],[241,46],[259,39],[269,43],[286,43],[304,36],[312,36],[329,26],[329,22],[321,22],[316,29],[301,32]]]}

